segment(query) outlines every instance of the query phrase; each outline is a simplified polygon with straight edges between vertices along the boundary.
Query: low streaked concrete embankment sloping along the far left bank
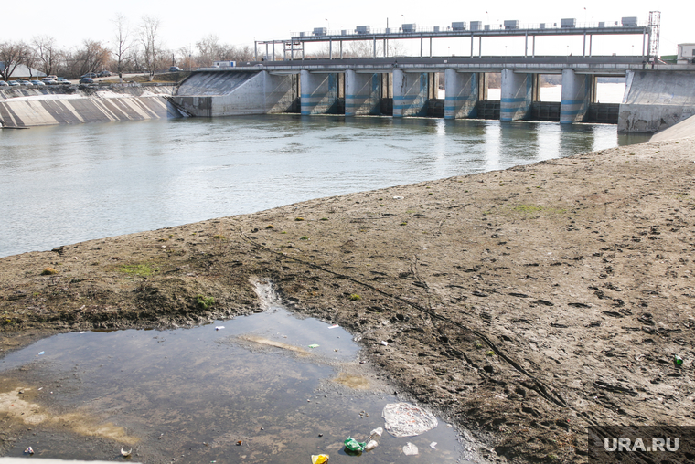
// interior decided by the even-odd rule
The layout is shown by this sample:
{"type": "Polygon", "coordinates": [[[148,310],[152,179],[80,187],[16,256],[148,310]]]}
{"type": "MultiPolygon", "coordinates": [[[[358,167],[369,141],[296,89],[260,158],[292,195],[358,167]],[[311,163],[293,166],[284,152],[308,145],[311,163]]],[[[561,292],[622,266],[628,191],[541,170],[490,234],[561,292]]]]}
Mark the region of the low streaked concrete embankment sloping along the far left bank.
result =
{"type": "Polygon", "coordinates": [[[176,118],[167,98],[175,86],[61,87],[0,91],[0,125],[6,128],[176,118]]]}

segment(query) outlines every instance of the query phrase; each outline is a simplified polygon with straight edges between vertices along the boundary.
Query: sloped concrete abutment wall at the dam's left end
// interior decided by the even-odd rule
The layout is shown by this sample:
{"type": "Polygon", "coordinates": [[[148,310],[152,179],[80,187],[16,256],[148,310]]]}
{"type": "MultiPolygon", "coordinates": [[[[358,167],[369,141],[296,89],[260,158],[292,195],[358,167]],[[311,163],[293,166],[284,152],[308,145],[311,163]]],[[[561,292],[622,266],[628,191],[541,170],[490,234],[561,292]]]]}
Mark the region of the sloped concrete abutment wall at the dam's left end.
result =
{"type": "Polygon", "coordinates": [[[298,95],[296,76],[218,71],[190,76],[173,101],[192,116],[216,117],[291,111],[298,95]]]}

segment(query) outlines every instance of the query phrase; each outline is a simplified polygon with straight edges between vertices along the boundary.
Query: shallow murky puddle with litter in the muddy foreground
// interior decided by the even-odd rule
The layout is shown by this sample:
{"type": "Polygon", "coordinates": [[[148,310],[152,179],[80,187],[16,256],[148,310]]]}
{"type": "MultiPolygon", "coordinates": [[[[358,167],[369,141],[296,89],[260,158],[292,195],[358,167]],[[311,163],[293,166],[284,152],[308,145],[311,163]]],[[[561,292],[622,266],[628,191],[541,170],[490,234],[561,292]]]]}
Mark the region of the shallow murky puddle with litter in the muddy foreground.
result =
{"type": "Polygon", "coordinates": [[[343,441],[384,427],[383,406],[398,399],[358,363],[348,332],[265,301],[269,311],[193,329],[65,333],[8,354],[0,414],[5,404],[31,431],[6,456],[31,446],[39,458],[123,459],[124,447],[143,462],[459,461],[441,420],[348,456],[343,441]],[[403,454],[408,442],[418,456],[403,454]]]}

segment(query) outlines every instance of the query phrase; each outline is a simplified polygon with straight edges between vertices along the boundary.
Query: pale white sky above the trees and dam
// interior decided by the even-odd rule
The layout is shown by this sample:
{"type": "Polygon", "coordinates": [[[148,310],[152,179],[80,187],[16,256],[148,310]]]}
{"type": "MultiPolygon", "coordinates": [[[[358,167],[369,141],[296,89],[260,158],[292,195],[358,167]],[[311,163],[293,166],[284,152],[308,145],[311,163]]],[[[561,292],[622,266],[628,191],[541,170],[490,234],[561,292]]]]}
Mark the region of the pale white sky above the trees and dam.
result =
{"type": "MultiPolygon", "coordinates": [[[[578,23],[620,21],[623,16],[637,16],[646,22],[649,10],[661,11],[660,55],[675,55],[679,43],[695,42],[692,27],[695,3],[686,0],[662,0],[647,2],[634,0],[606,2],[588,0],[564,2],[472,2],[440,0],[432,4],[392,0],[352,0],[330,2],[326,0],[265,0],[261,2],[164,2],[162,0],[122,0],[119,2],[88,2],[70,7],[49,7],[27,10],[22,13],[5,11],[0,25],[0,42],[24,40],[48,35],[55,37],[59,47],[80,45],[84,39],[102,41],[106,46],[113,42],[113,19],[117,13],[127,17],[133,29],[144,15],[155,16],[161,21],[161,37],[167,48],[195,47],[196,41],[210,34],[219,36],[223,43],[253,47],[253,41],[289,38],[291,33],[311,31],[314,27],[329,30],[352,30],[358,25],[385,28],[387,18],[390,27],[402,23],[418,26],[449,26],[453,21],[483,21],[483,24],[501,24],[506,19],[517,19],[524,24],[557,22],[561,18],[574,17],[578,23]],[[422,7],[429,6],[429,7],[422,7]],[[487,13],[486,13],[487,10],[487,13]]],[[[529,41],[530,42],[530,41],[529,41]]],[[[588,42],[588,40],[587,40],[588,42]]],[[[419,52],[418,40],[408,41],[408,47],[419,52]]],[[[425,45],[427,47],[427,45],[425,45]]],[[[529,44],[530,47],[530,44],[529,44]]],[[[583,38],[537,39],[536,53],[581,54],[583,38]]],[[[523,55],[523,37],[514,39],[484,39],[483,53],[487,55],[523,55]],[[507,46],[507,47],[505,47],[507,46]]],[[[477,44],[476,44],[477,50],[477,44]]],[[[593,54],[618,55],[641,54],[641,37],[631,40],[616,37],[594,37],[593,54]]],[[[468,39],[459,42],[434,40],[434,55],[470,52],[468,39]],[[459,48],[459,49],[456,49],[459,48]]],[[[259,53],[262,51],[259,49],[259,53]]],[[[429,54],[426,49],[425,54],[429,54]]]]}

